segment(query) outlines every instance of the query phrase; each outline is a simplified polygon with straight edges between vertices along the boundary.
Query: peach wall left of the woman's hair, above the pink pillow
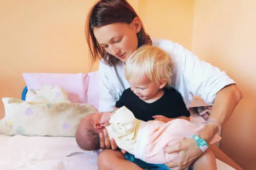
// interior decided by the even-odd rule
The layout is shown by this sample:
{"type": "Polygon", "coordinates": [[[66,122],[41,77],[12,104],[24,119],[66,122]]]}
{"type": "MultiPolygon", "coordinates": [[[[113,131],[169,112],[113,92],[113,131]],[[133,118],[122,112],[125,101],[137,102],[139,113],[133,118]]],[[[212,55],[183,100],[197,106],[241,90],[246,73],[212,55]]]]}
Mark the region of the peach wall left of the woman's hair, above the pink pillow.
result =
{"type": "Polygon", "coordinates": [[[94,2],[0,0],[0,98],[21,97],[23,72],[88,72],[84,21],[94,2]]]}

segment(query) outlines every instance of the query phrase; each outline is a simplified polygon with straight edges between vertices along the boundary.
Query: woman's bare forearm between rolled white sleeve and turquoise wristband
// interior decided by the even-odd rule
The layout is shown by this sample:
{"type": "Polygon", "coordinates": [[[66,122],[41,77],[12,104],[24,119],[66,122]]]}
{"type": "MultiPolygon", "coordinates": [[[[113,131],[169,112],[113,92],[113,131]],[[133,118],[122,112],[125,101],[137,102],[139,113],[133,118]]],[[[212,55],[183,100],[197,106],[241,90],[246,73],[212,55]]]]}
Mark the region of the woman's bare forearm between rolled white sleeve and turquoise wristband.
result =
{"type": "MultiPolygon", "coordinates": [[[[232,115],[242,97],[242,93],[236,85],[224,87],[215,97],[210,117],[216,118],[220,125],[223,125],[232,115]]],[[[218,130],[217,125],[206,125],[200,137],[205,139],[207,143],[210,143],[212,138],[218,133],[218,130]]]]}

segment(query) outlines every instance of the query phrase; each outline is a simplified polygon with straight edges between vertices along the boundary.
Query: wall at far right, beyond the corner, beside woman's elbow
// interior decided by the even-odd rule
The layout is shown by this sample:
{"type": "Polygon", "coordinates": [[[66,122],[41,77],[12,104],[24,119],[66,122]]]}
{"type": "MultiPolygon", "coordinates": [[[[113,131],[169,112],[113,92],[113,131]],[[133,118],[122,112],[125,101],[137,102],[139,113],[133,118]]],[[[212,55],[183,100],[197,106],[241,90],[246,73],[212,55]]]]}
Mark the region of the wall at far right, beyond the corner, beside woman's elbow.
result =
{"type": "Polygon", "coordinates": [[[196,55],[226,70],[243,92],[220,146],[245,170],[256,167],[255,7],[255,0],[195,0],[192,43],[196,55]]]}

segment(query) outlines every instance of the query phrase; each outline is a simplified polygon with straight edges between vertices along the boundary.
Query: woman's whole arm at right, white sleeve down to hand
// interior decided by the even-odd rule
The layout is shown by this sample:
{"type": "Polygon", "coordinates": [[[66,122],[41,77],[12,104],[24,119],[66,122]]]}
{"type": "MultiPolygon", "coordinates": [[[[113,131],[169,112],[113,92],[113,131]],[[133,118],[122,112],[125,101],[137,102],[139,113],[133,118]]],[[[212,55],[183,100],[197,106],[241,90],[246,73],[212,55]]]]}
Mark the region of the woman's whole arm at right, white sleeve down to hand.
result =
{"type": "MultiPolygon", "coordinates": [[[[200,60],[189,50],[177,43],[164,41],[161,44],[168,51],[176,62],[174,73],[177,89],[182,93],[185,101],[189,103],[189,95],[200,95],[205,102],[213,104],[211,117],[216,118],[220,124],[228,120],[242,95],[235,81],[224,71],[210,63],[200,60]],[[182,85],[181,83],[182,82],[182,85]],[[190,93],[190,94],[189,94],[190,93]]],[[[200,134],[208,143],[218,132],[217,125],[207,125],[200,134]]],[[[170,147],[166,147],[167,153],[179,152],[179,156],[168,164],[172,167],[186,168],[196,158],[202,155],[195,140],[184,139],[170,147]]]]}

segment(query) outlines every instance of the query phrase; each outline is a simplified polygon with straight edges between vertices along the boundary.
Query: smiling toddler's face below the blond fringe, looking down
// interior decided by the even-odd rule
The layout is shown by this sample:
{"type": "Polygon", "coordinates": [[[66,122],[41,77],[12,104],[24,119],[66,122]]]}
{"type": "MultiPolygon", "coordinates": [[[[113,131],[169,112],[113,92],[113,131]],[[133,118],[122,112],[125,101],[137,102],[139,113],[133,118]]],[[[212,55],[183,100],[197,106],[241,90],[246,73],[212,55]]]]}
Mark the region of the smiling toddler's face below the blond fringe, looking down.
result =
{"type": "Polygon", "coordinates": [[[129,81],[131,90],[141,100],[153,98],[159,91],[159,85],[155,81],[149,80],[147,77],[141,79],[131,79],[129,81]]]}

